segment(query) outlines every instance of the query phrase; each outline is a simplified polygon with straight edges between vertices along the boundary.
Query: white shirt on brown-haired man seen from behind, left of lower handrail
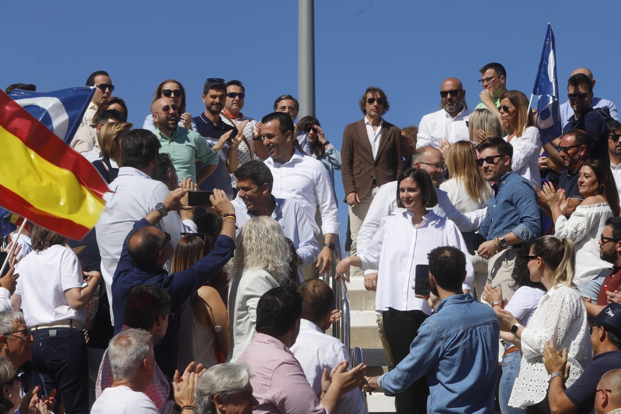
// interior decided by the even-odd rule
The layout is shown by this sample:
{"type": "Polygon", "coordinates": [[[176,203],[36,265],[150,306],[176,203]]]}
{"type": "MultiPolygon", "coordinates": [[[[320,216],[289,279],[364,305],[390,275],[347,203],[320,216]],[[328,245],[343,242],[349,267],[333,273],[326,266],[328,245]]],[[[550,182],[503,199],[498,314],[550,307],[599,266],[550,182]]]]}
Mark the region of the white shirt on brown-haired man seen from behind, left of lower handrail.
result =
{"type": "MultiPolygon", "coordinates": [[[[300,333],[289,351],[293,352],[302,366],[306,379],[317,395],[321,394],[321,377],[324,368],[330,372],[338,362],[350,361],[349,352],[341,341],[323,333],[317,324],[306,319],[300,320],[300,333]]],[[[343,394],[338,405],[338,412],[340,414],[364,413],[365,402],[360,390],[354,389],[343,394]]]]}

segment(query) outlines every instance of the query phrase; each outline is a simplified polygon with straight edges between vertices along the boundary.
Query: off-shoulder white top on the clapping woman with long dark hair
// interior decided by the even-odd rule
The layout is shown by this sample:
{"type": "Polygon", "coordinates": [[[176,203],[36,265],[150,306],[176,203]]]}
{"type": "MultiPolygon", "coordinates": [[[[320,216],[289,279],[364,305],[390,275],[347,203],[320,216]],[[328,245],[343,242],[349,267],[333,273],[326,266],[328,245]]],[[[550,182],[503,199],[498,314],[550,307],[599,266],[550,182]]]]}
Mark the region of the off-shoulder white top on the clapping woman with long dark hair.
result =
{"type": "Polygon", "coordinates": [[[555,236],[568,237],[576,250],[574,285],[581,287],[596,277],[602,269],[612,269],[612,264],[599,258],[599,236],[604,231],[606,219],[612,217],[608,203],[578,206],[567,219],[560,216],[555,223],[555,236]]]}

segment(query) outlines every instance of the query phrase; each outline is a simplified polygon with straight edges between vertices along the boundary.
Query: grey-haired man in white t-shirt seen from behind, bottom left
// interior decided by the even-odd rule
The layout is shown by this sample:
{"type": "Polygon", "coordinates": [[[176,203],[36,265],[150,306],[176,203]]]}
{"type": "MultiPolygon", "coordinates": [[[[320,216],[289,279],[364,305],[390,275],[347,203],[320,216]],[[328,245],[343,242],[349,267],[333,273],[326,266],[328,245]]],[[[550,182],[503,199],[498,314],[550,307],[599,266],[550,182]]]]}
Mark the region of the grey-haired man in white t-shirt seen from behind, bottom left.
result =
{"type": "Polygon", "coordinates": [[[151,334],[142,329],[127,329],[111,339],[108,356],[114,382],[97,398],[91,414],[159,413],[145,394],[155,373],[150,338],[151,334]]]}

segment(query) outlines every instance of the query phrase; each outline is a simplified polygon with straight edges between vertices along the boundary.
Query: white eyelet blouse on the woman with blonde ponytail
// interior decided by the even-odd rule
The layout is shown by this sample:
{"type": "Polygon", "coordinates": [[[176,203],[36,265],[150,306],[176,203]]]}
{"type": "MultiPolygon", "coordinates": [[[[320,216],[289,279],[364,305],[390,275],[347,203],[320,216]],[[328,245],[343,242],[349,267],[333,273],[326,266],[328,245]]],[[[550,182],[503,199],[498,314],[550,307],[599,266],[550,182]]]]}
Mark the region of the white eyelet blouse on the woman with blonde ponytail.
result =
{"type": "Polygon", "coordinates": [[[511,407],[527,407],[545,398],[548,372],[542,357],[547,341],[554,341],[557,351],[567,348],[571,369],[566,387],[582,375],[592,356],[586,316],[580,293],[574,288],[556,285],[543,295],[522,331],[522,361],[509,398],[511,407]]]}

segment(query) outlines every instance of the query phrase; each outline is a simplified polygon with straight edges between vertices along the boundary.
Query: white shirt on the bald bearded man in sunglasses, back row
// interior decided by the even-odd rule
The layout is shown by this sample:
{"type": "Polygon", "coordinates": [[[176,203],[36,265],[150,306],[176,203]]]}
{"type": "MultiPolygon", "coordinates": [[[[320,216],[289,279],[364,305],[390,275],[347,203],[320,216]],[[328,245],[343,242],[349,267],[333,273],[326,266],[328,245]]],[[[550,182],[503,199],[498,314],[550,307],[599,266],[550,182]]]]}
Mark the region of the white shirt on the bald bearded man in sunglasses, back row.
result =
{"type": "Polygon", "coordinates": [[[462,109],[452,117],[444,109],[425,115],[419,123],[419,133],[416,136],[416,149],[427,145],[438,148],[440,140],[446,138],[451,144],[457,141],[470,139],[466,121],[470,117],[468,109],[462,109]]]}

